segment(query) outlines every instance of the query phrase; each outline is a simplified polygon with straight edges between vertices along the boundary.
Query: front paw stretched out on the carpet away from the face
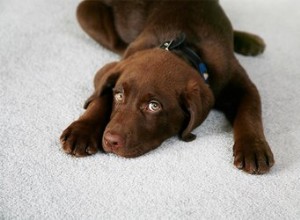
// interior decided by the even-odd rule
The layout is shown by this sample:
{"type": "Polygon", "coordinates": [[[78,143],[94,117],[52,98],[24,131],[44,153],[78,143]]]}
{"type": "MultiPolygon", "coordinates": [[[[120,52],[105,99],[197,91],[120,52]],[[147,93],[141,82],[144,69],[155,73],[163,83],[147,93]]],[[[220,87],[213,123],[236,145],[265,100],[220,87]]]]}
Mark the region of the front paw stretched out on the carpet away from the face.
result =
{"type": "Polygon", "coordinates": [[[234,165],[250,174],[263,174],[274,164],[273,153],[265,140],[239,140],[233,146],[234,165]]]}

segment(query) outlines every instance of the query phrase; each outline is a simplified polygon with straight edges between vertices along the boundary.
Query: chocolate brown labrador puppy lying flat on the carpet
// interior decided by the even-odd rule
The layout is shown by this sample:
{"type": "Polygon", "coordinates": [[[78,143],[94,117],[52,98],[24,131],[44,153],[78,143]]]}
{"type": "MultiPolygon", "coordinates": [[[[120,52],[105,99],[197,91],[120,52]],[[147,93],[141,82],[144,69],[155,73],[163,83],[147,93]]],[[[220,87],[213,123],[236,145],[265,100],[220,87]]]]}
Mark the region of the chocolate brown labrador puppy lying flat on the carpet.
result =
{"type": "Polygon", "coordinates": [[[274,164],[258,91],[234,55],[260,54],[264,42],[233,31],[218,0],[85,0],[77,17],[122,59],[96,74],[86,111],[61,136],[66,153],[137,157],[174,135],[192,141],[214,107],[233,125],[237,168],[274,164]]]}

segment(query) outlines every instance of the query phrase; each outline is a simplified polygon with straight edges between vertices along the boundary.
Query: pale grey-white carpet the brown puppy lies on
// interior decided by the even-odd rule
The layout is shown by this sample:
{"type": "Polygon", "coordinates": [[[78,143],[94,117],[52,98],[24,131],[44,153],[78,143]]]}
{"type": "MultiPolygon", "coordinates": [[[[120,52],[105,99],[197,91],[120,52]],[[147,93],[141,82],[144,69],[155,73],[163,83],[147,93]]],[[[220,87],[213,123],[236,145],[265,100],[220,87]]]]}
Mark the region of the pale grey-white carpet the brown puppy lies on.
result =
{"type": "Polygon", "coordinates": [[[258,86],[276,164],[237,170],[232,129],[212,112],[136,159],[61,150],[95,72],[118,57],[78,26],[78,0],[0,0],[0,219],[300,219],[300,1],[223,0],[266,52],[238,56],[258,86]]]}

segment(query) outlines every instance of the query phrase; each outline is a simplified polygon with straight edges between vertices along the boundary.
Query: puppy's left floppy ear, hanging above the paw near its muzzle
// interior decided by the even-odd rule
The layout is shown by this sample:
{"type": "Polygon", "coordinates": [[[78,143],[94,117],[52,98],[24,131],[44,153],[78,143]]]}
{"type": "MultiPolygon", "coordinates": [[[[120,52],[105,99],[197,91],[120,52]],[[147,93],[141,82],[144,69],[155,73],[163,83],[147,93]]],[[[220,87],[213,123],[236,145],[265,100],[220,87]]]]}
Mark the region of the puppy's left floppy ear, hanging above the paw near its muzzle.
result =
{"type": "Polygon", "coordinates": [[[84,109],[97,97],[104,95],[112,96],[114,88],[121,72],[117,70],[118,62],[106,64],[96,74],[94,78],[95,92],[84,103],[84,109]]]}

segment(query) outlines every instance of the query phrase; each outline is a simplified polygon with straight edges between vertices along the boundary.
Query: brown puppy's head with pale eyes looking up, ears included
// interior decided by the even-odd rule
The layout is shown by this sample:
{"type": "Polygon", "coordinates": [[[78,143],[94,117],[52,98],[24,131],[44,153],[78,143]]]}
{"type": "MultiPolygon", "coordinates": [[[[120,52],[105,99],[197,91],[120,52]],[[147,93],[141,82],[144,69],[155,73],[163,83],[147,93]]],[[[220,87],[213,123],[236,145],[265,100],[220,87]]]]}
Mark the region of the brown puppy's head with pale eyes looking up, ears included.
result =
{"type": "Polygon", "coordinates": [[[176,134],[193,140],[190,132],[206,118],[214,102],[195,69],[159,48],[106,65],[95,85],[97,95],[110,93],[113,99],[103,149],[124,157],[142,155],[176,134]]]}

